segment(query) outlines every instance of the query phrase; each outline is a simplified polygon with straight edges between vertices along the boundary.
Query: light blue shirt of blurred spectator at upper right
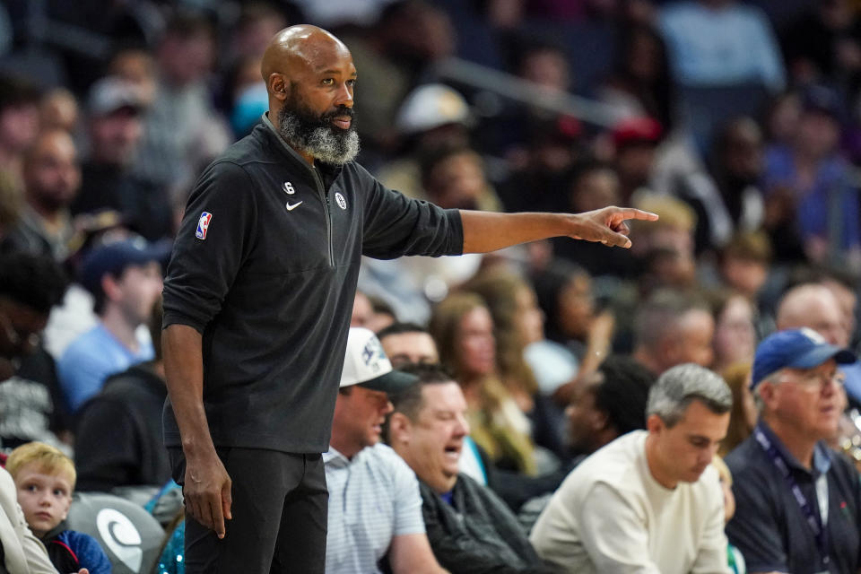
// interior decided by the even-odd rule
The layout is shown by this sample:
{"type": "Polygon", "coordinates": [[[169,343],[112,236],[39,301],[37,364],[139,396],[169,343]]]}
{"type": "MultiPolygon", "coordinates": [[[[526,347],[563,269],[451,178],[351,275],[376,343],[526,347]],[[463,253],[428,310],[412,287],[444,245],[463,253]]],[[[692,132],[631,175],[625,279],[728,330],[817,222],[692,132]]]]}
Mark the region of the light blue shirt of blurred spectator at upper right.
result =
{"type": "Polygon", "coordinates": [[[716,10],[699,2],[681,2],[665,7],[658,21],[680,83],[759,82],[770,91],[783,89],[783,60],[758,8],[730,4],[716,10]]]}

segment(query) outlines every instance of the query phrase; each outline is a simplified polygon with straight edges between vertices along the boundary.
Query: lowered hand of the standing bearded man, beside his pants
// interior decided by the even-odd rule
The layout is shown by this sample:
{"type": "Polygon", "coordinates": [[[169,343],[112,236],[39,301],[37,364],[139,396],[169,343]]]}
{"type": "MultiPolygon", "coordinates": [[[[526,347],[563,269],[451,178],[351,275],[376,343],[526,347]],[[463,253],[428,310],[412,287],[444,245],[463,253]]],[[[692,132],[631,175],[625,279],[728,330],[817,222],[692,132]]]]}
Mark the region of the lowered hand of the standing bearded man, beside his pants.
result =
{"type": "Polygon", "coordinates": [[[219,538],[224,537],[224,519],[232,518],[231,485],[230,475],[214,451],[186,457],[186,511],[219,538]]]}

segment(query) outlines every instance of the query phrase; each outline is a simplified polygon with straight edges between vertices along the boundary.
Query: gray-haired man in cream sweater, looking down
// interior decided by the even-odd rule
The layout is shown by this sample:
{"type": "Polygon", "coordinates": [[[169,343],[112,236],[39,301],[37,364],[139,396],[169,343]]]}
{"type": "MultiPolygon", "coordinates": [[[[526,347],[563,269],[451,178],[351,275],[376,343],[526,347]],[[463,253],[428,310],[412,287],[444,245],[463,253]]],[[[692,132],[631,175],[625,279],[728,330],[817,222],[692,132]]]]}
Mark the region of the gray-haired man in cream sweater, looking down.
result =
{"type": "Polygon", "coordinates": [[[732,396],[692,363],[657,379],[648,431],[613,440],[578,465],[530,536],[569,572],[728,573],[723,496],[709,465],[732,396]]]}

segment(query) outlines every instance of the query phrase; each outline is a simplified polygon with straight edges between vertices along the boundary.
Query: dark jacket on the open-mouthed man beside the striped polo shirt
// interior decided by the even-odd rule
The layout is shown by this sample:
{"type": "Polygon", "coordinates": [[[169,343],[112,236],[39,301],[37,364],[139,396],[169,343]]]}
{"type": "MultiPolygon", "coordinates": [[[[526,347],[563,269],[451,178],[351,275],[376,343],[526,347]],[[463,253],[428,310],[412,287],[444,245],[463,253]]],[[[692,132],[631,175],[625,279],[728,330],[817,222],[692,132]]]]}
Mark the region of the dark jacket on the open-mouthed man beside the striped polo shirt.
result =
{"type": "Polygon", "coordinates": [[[452,574],[551,574],[505,503],[465,474],[457,475],[452,504],[419,481],[431,549],[452,574]]]}

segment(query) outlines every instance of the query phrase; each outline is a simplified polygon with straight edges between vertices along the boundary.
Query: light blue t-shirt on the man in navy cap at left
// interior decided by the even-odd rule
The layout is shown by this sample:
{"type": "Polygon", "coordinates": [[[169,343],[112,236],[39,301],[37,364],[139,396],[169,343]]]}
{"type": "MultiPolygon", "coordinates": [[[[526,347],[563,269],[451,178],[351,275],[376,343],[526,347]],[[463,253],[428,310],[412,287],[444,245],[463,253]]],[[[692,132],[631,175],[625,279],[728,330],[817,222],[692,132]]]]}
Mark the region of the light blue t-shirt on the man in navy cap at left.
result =
{"type": "Polygon", "coordinates": [[[152,361],[154,357],[151,342],[140,344],[140,349],[132,352],[103,325],[94,326],[75,339],[57,362],[60,387],[69,409],[77,411],[100,391],[110,375],[139,362],[152,361]]]}

